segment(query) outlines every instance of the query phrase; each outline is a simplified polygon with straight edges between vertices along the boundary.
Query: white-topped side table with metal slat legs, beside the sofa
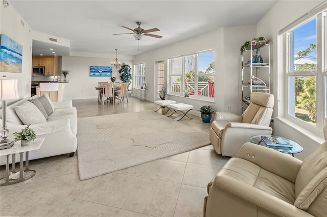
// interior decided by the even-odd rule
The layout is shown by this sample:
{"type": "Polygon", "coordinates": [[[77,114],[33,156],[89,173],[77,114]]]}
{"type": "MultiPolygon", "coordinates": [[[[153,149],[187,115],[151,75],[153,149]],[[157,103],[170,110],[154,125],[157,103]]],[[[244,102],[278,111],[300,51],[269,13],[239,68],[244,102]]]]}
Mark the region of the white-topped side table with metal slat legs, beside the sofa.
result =
{"type": "Polygon", "coordinates": [[[6,156],[6,175],[5,177],[0,179],[0,186],[16,184],[22,181],[26,181],[35,176],[35,170],[29,169],[29,151],[40,149],[44,138],[36,138],[34,141],[30,142],[28,146],[21,146],[19,142],[15,143],[9,149],[0,150],[0,156],[6,156]],[[24,170],[24,152],[25,152],[25,170],[24,170]],[[16,173],[16,154],[19,154],[19,178],[18,177],[10,177],[10,168],[9,168],[9,157],[12,155],[11,162],[11,173],[16,173]]]}

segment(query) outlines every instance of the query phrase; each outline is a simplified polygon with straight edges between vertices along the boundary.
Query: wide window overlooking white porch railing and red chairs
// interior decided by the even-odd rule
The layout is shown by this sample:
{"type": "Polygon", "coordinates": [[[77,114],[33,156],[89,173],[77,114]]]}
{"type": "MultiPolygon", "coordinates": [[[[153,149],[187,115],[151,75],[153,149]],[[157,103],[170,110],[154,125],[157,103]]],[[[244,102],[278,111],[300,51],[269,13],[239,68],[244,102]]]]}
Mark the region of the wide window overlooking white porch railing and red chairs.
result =
{"type": "Polygon", "coordinates": [[[169,59],[170,86],[168,93],[190,97],[215,97],[215,52],[197,52],[192,55],[169,59]],[[183,64],[182,64],[183,63],[183,64]]]}

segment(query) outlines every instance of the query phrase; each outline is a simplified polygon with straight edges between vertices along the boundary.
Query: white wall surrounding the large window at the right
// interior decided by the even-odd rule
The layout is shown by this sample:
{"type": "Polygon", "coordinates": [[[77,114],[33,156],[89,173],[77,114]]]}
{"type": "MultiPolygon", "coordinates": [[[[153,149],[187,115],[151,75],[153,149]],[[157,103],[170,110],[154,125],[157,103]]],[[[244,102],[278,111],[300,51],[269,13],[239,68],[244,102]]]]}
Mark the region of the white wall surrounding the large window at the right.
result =
{"type": "Polygon", "coordinates": [[[272,39],[271,84],[272,94],[275,97],[273,134],[298,142],[304,148],[303,152],[296,154],[296,157],[299,159],[304,159],[308,156],[323,140],[304,129],[292,126],[282,119],[276,118],[276,116],[283,116],[286,107],[286,104],[284,104],[286,97],[284,89],[285,75],[284,71],[278,70],[279,65],[282,63],[278,63],[277,58],[277,48],[281,49],[278,47],[277,34],[279,30],[282,30],[303,14],[308,13],[308,11],[321,2],[323,1],[278,1],[256,25],[257,37],[265,36],[272,39]]]}

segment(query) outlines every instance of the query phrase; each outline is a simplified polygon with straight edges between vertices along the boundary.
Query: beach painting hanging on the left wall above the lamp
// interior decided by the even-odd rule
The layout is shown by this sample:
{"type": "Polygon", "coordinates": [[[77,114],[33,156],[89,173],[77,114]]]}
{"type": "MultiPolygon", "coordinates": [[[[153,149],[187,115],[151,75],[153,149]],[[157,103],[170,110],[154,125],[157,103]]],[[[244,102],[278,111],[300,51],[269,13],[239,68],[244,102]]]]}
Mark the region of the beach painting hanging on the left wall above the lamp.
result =
{"type": "Polygon", "coordinates": [[[21,73],[22,46],[1,34],[0,41],[0,71],[21,73]]]}

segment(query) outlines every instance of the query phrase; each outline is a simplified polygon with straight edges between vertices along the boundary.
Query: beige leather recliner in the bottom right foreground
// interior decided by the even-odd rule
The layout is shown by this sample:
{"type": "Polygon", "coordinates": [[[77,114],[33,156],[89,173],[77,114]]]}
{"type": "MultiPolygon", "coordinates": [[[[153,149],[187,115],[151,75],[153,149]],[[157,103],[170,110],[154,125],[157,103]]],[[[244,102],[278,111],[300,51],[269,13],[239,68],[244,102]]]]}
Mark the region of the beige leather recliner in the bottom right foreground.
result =
{"type": "Polygon", "coordinates": [[[207,191],[203,210],[206,217],[325,217],[327,144],[300,161],[289,154],[246,143],[208,184],[207,191]]]}

